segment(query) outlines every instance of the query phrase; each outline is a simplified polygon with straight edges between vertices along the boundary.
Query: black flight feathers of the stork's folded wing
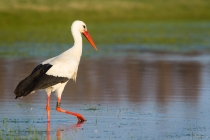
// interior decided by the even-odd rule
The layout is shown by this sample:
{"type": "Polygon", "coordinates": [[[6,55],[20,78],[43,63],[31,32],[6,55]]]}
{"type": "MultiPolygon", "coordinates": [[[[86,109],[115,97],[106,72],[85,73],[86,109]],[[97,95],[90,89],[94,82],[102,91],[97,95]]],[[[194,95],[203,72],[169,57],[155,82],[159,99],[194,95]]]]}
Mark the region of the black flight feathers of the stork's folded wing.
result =
{"type": "Polygon", "coordinates": [[[28,77],[20,81],[20,83],[17,85],[14,91],[16,95],[15,99],[18,97],[26,96],[32,91],[45,89],[58,83],[65,83],[69,80],[66,77],[47,75],[46,72],[51,67],[52,65],[50,64],[38,65],[28,77]]]}

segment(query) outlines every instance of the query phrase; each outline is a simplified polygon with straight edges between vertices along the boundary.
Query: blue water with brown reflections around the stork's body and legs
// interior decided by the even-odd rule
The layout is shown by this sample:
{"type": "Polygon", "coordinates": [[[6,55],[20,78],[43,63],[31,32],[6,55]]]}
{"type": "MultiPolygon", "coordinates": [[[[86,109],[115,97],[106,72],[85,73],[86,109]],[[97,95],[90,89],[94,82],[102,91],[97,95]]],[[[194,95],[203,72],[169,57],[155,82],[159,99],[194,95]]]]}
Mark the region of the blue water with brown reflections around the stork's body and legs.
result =
{"type": "Polygon", "coordinates": [[[139,54],[82,58],[64,109],[46,122],[46,93],[14,99],[18,82],[44,59],[0,59],[0,139],[210,139],[210,57],[139,54]]]}

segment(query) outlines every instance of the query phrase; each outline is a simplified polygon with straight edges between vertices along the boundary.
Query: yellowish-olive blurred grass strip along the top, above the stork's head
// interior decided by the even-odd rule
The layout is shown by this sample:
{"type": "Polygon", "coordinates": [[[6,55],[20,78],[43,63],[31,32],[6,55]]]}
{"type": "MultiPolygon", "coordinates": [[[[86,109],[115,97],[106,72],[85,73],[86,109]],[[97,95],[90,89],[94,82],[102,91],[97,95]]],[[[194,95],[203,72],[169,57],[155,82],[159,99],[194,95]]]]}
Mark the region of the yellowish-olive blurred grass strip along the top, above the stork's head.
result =
{"type": "Polygon", "coordinates": [[[208,0],[1,0],[0,9],[2,14],[12,14],[19,21],[28,17],[27,22],[33,23],[49,23],[53,19],[66,22],[75,18],[88,22],[210,18],[208,0]],[[41,17],[42,21],[33,16],[41,17]]]}

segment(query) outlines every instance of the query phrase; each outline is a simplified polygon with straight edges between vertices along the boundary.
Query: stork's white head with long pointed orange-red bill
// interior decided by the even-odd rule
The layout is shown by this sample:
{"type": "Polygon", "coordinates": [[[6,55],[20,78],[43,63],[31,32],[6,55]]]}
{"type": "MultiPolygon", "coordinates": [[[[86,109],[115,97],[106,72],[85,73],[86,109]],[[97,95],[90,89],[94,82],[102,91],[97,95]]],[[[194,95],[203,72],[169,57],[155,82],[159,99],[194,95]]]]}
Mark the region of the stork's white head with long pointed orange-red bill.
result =
{"type": "Polygon", "coordinates": [[[72,23],[72,26],[71,26],[71,30],[79,30],[80,33],[82,33],[86,39],[89,41],[89,43],[93,46],[93,48],[95,50],[97,50],[97,47],[95,45],[95,43],[93,42],[90,34],[88,33],[87,31],[87,26],[86,24],[83,22],[83,21],[80,21],[80,20],[76,20],[72,23]]]}

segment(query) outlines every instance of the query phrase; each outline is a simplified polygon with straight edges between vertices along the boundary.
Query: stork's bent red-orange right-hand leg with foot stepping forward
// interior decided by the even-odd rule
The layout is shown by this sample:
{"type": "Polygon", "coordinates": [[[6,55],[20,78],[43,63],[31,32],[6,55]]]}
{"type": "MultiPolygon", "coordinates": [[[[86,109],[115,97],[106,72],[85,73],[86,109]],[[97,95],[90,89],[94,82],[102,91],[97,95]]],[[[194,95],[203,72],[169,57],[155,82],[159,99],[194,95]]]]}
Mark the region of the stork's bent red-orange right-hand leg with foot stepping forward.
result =
{"type": "Polygon", "coordinates": [[[58,112],[63,112],[63,113],[66,113],[66,114],[70,114],[70,115],[76,116],[77,119],[78,119],[78,122],[84,122],[84,121],[86,121],[85,118],[82,115],[78,114],[78,113],[70,112],[70,111],[67,111],[67,110],[63,110],[60,107],[60,98],[58,98],[58,102],[57,102],[57,105],[56,105],[56,110],[58,112]]]}

